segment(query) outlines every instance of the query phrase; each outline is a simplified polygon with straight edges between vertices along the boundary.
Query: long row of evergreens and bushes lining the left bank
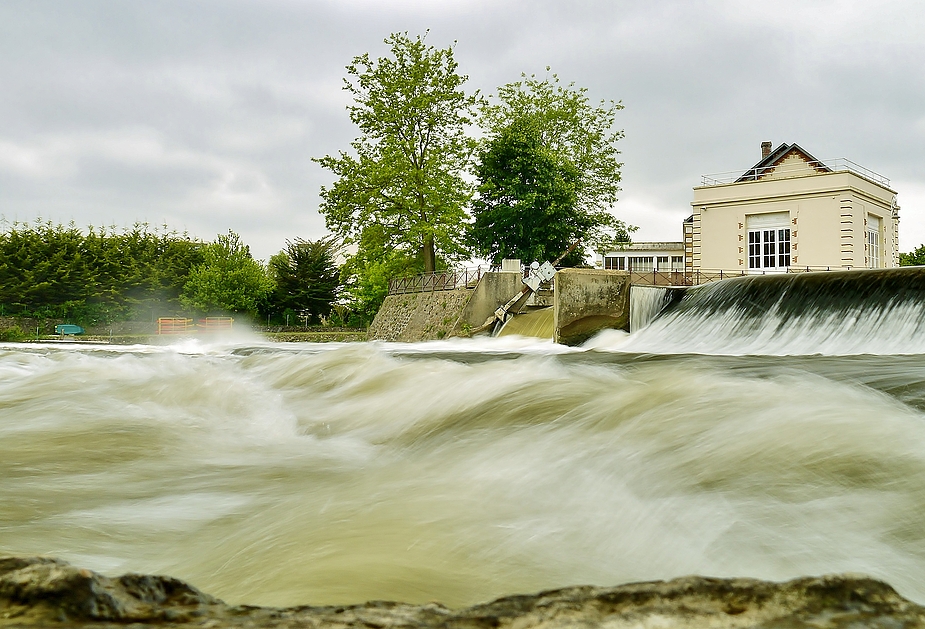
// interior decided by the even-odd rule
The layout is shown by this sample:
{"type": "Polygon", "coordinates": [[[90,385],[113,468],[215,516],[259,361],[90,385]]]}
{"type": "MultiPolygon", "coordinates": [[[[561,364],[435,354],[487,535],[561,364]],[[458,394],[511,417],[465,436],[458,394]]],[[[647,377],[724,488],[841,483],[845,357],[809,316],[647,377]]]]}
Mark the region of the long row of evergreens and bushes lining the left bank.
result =
{"type": "Polygon", "coordinates": [[[204,242],[151,228],[13,223],[0,232],[0,316],[86,325],[243,313],[317,322],[340,288],[331,238],[295,239],[269,265],[234,232],[204,242]]]}

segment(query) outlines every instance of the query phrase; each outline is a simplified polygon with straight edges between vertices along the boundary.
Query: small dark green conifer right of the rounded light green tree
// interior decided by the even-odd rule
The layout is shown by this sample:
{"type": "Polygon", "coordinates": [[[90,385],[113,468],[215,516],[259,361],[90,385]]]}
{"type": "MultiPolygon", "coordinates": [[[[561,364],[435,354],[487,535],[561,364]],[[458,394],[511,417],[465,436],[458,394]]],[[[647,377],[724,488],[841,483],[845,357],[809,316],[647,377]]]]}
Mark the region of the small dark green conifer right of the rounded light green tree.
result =
{"type": "Polygon", "coordinates": [[[327,317],[340,286],[338,249],[332,237],[287,241],[286,249],[270,258],[274,309],[307,312],[314,320],[327,317]]]}

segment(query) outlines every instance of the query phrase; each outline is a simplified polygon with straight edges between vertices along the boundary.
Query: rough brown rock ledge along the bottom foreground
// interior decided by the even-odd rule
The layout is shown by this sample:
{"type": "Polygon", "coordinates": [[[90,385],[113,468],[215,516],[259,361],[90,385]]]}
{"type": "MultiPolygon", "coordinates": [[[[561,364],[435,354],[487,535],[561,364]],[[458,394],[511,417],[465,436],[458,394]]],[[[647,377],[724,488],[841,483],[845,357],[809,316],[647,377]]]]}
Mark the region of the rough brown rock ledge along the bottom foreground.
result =
{"type": "Polygon", "coordinates": [[[110,579],[42,557],[0,557],[0,627],[925,627],[925,608],[858,575],[787,583],[685,577],[571,587],[451,610],[370,602],[231,606],[170,577],[110,579]]]}

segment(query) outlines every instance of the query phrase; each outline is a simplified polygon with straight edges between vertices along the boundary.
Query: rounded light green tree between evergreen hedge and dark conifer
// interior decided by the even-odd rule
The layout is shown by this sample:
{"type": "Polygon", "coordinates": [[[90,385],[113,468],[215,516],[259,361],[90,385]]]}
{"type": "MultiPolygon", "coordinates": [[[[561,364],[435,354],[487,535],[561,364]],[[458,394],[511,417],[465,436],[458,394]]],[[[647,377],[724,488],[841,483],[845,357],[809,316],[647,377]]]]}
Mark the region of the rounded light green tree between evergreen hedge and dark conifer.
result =
{"type": "Polygon", "coordinates": [[[203,262],[189,274],[180,301],[187,308],[254,315],[273,290],[266,268],[229,231],[203,247],[203,262]]]}

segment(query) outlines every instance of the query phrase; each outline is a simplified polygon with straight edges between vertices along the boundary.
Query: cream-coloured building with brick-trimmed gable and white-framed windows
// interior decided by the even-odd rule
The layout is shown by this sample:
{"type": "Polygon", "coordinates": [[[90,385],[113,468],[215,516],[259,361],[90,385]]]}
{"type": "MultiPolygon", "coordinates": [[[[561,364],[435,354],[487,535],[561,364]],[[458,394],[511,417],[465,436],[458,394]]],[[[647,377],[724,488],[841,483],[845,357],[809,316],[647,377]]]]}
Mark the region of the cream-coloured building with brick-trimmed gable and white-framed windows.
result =
{"type": "Polygon", "coordinates": [[[705,175],[685,222],[685,267],[786,271],[899,265],[899,206],[885,177],[820,161],[796,144],[761,145],[745,171],[705,175]]]}

